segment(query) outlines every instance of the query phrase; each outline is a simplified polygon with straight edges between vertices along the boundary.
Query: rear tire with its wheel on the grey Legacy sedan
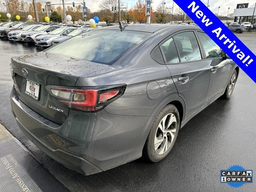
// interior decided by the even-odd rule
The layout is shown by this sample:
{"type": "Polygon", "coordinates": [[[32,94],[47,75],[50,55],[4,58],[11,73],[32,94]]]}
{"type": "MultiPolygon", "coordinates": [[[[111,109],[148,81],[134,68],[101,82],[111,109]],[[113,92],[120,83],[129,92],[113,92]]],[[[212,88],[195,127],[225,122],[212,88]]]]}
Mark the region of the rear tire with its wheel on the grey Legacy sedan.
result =
{"type": "Polygon", "coordinates": [[[179,112],[174,105],[168,104],[160,111],[150,129],[142,151],[143,158],[151,162],[165,158],[174,146],[179,129],[179,112]],[[163,122],[165,122],[164,130],[161,128],[163,122]],[[169,123],[170,126],[167,127],[169,123]]]}

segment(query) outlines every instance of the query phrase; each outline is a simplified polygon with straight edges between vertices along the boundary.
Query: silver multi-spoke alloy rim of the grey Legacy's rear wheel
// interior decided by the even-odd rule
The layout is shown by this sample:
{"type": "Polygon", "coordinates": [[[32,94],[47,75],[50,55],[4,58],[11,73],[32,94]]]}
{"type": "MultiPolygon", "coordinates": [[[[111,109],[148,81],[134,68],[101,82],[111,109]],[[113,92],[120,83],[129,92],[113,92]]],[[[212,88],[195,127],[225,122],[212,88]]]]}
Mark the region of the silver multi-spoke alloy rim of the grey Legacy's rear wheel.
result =
{"type": "Polygon", "coordinates": [[[177,129],[176,122],[176,117],[172,113],[167,114],[160,121],[154,139],[157,154],[164,154],[170,148],[177,129]]]}

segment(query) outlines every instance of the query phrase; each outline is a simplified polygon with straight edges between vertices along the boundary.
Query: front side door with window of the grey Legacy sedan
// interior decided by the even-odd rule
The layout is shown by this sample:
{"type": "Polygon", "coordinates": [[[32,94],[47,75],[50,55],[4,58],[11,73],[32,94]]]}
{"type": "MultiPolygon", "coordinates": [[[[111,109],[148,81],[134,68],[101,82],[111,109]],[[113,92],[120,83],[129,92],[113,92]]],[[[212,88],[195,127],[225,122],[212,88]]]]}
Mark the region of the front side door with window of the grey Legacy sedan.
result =
{"type": "Polygon", "coordinates": [[[207,34],[202,31],[196,33],[203,48],[205,61],[210,67],[210,86],[206,96],[208,102],[225,90],[232,67],[230,59],[226,60],[223,51],[207,34]]]}

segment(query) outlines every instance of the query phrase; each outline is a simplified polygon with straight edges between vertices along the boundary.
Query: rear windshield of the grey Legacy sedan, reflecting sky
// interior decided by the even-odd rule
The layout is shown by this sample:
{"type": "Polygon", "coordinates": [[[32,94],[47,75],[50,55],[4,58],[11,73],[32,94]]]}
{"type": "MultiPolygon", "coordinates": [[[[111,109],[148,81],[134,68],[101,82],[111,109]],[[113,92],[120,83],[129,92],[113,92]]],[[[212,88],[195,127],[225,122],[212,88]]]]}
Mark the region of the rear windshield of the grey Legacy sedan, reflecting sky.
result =
{"type": "Polygon", "coordinates": [[[57,44],[46,52],[108,64],[148,36],[150,33],[146,32],[92,30],[57,44]]]}

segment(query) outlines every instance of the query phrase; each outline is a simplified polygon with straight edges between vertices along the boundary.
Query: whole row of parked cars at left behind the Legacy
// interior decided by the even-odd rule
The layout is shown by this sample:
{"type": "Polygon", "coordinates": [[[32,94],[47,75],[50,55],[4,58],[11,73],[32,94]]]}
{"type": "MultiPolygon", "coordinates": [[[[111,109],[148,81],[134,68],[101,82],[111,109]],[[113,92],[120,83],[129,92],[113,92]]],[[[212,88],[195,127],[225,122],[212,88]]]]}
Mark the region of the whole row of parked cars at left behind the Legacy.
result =
{"type": "MultiPolygon", "coordinates": [[[[99,28],[102,26],[96,26],[99,28]]],[[[0,38],[14,42],[34,43],[40,47],[50,47],[68,38],[92,30],[90,25],[63,26],[40,22],[7,22],[0,24],[0,38]]]]}

